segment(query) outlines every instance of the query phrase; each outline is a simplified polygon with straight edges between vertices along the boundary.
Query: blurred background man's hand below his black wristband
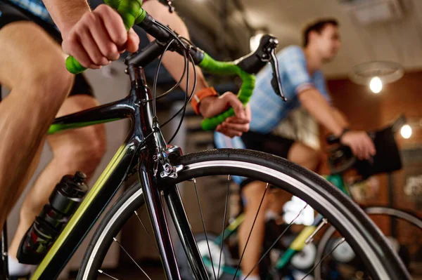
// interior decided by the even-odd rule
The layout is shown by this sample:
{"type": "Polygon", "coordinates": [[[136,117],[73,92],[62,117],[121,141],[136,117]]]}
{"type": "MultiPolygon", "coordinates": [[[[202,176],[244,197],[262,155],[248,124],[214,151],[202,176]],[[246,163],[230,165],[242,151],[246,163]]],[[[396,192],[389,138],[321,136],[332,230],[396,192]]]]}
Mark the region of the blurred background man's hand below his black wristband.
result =
{"type": "Polygon", "coordinates": [[[369,159],[376,153],[372,139],[365,131],[347,131],[340,142],[352,149],[358,159],[369,159]]]}

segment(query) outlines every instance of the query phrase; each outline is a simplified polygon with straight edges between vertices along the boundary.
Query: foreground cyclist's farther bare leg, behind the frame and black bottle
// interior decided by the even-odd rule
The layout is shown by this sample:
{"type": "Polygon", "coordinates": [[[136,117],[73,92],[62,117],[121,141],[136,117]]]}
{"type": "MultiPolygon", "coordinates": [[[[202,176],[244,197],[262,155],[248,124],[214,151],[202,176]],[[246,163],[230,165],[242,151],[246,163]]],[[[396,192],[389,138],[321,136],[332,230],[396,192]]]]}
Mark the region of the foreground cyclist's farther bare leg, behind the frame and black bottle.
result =
{"type": "MultiPolygon", "coordinates": [[[[89,95],[73,95],[65,100],[58,116],[97,105],[98,102],[89,95]]],[[[53,159],[34,182],[20,210],[19,226],[9,248],[11,258],[16,258],[20,240],[44,204],[48,203],[53,188],[63,175],[82,171],[89,180],[106,151],[106,131],[102,124],[49,135],[47,140],[53,151],[53,159]]]]}

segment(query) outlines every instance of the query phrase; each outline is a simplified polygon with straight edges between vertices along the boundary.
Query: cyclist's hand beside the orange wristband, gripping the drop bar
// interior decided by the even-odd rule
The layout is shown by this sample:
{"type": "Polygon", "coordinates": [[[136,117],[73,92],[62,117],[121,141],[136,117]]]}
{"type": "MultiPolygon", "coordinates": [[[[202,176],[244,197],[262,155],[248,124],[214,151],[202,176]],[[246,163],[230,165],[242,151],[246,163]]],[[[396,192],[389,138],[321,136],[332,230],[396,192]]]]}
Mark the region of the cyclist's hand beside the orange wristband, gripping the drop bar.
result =
{"type": "Polygon", "coordinates": [[[230,107],[233,107],[236,115],[227,118],[215,130],[229,137],[241,136],[249,131],[250,107],[249,105],[243,107],[234,93],[227,92],[218,98],[215,96],[204,98],[200,102],[199,111],[204,118],[210,118],[225,112],[230,107]]]}

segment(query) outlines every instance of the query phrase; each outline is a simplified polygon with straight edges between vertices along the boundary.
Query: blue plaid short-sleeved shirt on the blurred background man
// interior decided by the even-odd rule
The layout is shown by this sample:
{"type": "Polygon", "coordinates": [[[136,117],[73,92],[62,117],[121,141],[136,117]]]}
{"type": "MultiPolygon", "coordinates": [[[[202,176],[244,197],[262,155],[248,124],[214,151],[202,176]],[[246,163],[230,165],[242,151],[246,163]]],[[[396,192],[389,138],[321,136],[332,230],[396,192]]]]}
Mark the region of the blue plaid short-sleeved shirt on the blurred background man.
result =
{"type": "MultiPolygon", "coordinates": [[[[326,90],[324,74],[315,72],[312,76],[307,71],[305,53],[300,46],[288,46],[277,53],[279,71],[284,95],[288,99],[284,102],[274,92],[271,86],[272,68],[267,65],[257,74],[255,90],[250,98],[252,121],[250,131],[271,133],[295,108],[300,107],[298,93],[313,86],[328,102],[330,96],[326,90]]],[[[229,138],[222,133],[215,133],[217,148],[245,149],[240,137],[229,138]]]]}

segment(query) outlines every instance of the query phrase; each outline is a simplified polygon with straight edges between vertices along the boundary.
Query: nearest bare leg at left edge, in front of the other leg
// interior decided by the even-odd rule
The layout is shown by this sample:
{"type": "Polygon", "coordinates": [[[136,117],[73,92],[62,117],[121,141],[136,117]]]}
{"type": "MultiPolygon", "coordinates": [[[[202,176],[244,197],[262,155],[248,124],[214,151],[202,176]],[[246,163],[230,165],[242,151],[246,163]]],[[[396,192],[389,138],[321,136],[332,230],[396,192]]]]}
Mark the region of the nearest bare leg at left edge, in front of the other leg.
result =
{"type": "Polygon", "coordinates": [[[0,29],[0,84],[11,88],[0,103],[0,229],[73,79],[41,27],[14,22],[0,29]]]}

